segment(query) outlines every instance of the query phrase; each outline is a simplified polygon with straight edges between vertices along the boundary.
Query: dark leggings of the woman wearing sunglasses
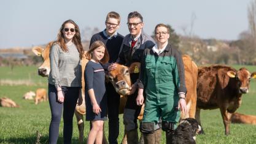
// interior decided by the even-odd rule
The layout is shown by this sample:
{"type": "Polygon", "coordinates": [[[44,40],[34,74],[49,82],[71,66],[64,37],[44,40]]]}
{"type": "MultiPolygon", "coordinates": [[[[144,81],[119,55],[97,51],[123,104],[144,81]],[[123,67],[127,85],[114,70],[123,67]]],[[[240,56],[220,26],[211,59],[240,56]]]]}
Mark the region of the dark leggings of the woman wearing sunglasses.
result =
{"type": "Polygon", "coordinates": [[[61,113],[63,109],[63,139],[64,143],[71,143],[73,116],[79,96],[80,87],[61,87],[64,95],[64,103],[58,103],[56,88],[48,84],[48,98],[52,113],[49,128],[49,143],[57,143],[59,136],[61,113]],[[64,106],[63,106],[64,105],[64,106]]]}

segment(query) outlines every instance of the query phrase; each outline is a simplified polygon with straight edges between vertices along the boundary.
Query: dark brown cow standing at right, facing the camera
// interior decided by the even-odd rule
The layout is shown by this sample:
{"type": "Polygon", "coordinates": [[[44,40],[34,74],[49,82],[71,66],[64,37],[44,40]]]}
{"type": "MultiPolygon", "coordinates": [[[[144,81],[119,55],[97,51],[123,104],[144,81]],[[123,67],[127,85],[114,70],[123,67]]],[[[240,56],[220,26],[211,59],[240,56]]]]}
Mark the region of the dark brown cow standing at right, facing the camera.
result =
{"type": "MultiPolygon", "coordinates": [[[[200,123],[200,109],[220,108],[225,134],[230,133],[230,117],[241,105],[241,96],[249,92],[250,74],[246,68],[236,71],[223,65],[198,68],[196,120],[200,123]]],[[[203,132],[203,129],[202,129],[203,132]]]]}

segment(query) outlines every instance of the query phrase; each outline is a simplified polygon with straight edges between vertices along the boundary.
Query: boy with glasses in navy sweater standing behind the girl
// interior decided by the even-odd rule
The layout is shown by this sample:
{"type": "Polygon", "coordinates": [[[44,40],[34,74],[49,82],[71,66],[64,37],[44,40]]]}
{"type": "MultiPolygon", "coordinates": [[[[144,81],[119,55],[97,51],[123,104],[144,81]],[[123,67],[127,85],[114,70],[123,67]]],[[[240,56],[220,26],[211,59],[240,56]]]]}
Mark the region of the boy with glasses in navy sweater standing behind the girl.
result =
{"type": "MultiPolygon", "coordinates": [[[[90,46],[94,41],[100,40],[106,45],[109,52],[109,63],[103,65],[105,71],[108,70],[111,63],[115,63],[120,51],[123,35],[118,34],[117,29],[120,26],[120,15],[117,12],[109,12],[105,21],[106,29],[91,37],[90,46]]],[[[116,67],[112,65],[112,67],[116,67]]],[[[120,95],[115,92],[115,88],[108,82],[106,84],[107,109],[109,118],[109,143],[117,143],[119,134],[119,103],[120,95]]]]}

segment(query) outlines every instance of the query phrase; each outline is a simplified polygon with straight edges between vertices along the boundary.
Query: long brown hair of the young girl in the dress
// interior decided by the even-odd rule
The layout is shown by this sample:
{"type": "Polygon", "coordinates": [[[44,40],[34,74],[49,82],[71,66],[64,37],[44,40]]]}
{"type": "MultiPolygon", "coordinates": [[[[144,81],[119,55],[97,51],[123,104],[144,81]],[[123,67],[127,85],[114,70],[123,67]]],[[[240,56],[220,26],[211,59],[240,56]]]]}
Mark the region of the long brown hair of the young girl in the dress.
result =
{"type": "Polygon", "coordinates": [[[95,42],[93,42],[92,44],[91,44],[91,47],[90,47],[90,49],[89,49],[89,51],[87,51],[86,52],[86,54],[85,54],[85,57],[88,59],[88,60],[90,60],[91,58],[92,58],[92,52],[96,49],[96,48],[99,48],[99,47],[104,47],[105,48],[105,52],[104,52],[104,57],[103,57],[103,59],[101,59],[101,63],[107,63],[107,62],[109,62],[109,52],[107,52],[107,48],[106,48],[106,46],[104,45],[104,43],[103,43],[103,41],[99,41],[99,40],[97,40],[97,41],[95,41],[95,42]]]}

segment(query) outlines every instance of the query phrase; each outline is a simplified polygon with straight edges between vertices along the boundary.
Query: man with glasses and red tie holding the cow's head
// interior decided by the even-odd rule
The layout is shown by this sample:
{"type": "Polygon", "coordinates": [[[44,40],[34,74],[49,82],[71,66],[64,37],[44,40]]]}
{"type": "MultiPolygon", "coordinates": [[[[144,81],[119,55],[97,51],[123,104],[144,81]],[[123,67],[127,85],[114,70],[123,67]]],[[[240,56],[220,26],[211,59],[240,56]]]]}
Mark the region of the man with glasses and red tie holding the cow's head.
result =
{"type": "MultiPolygon", "coordinates": [[[[127,25],[130,34],[126,35],[123,39],[117,63],[130,67],[133,62],[141,62],[144,49],[152,48],[155,45],[155,41],[142,31],[144,23],[140,13],[129,13],[127,25]]],[[[114,69],[114,65],[115,64],[112,64],[110,69],[114,69]]],[[[136,81],[139,78],[139,73],[130,74],[130,77],[133,85],[131,86],[131,95],[128,96],[123,112],[123,123],[125,124],[127,143],[136,144],[138,143],[137,119],[141,112],[141,106],[136,104],[138,95],[136,81]]]]}

